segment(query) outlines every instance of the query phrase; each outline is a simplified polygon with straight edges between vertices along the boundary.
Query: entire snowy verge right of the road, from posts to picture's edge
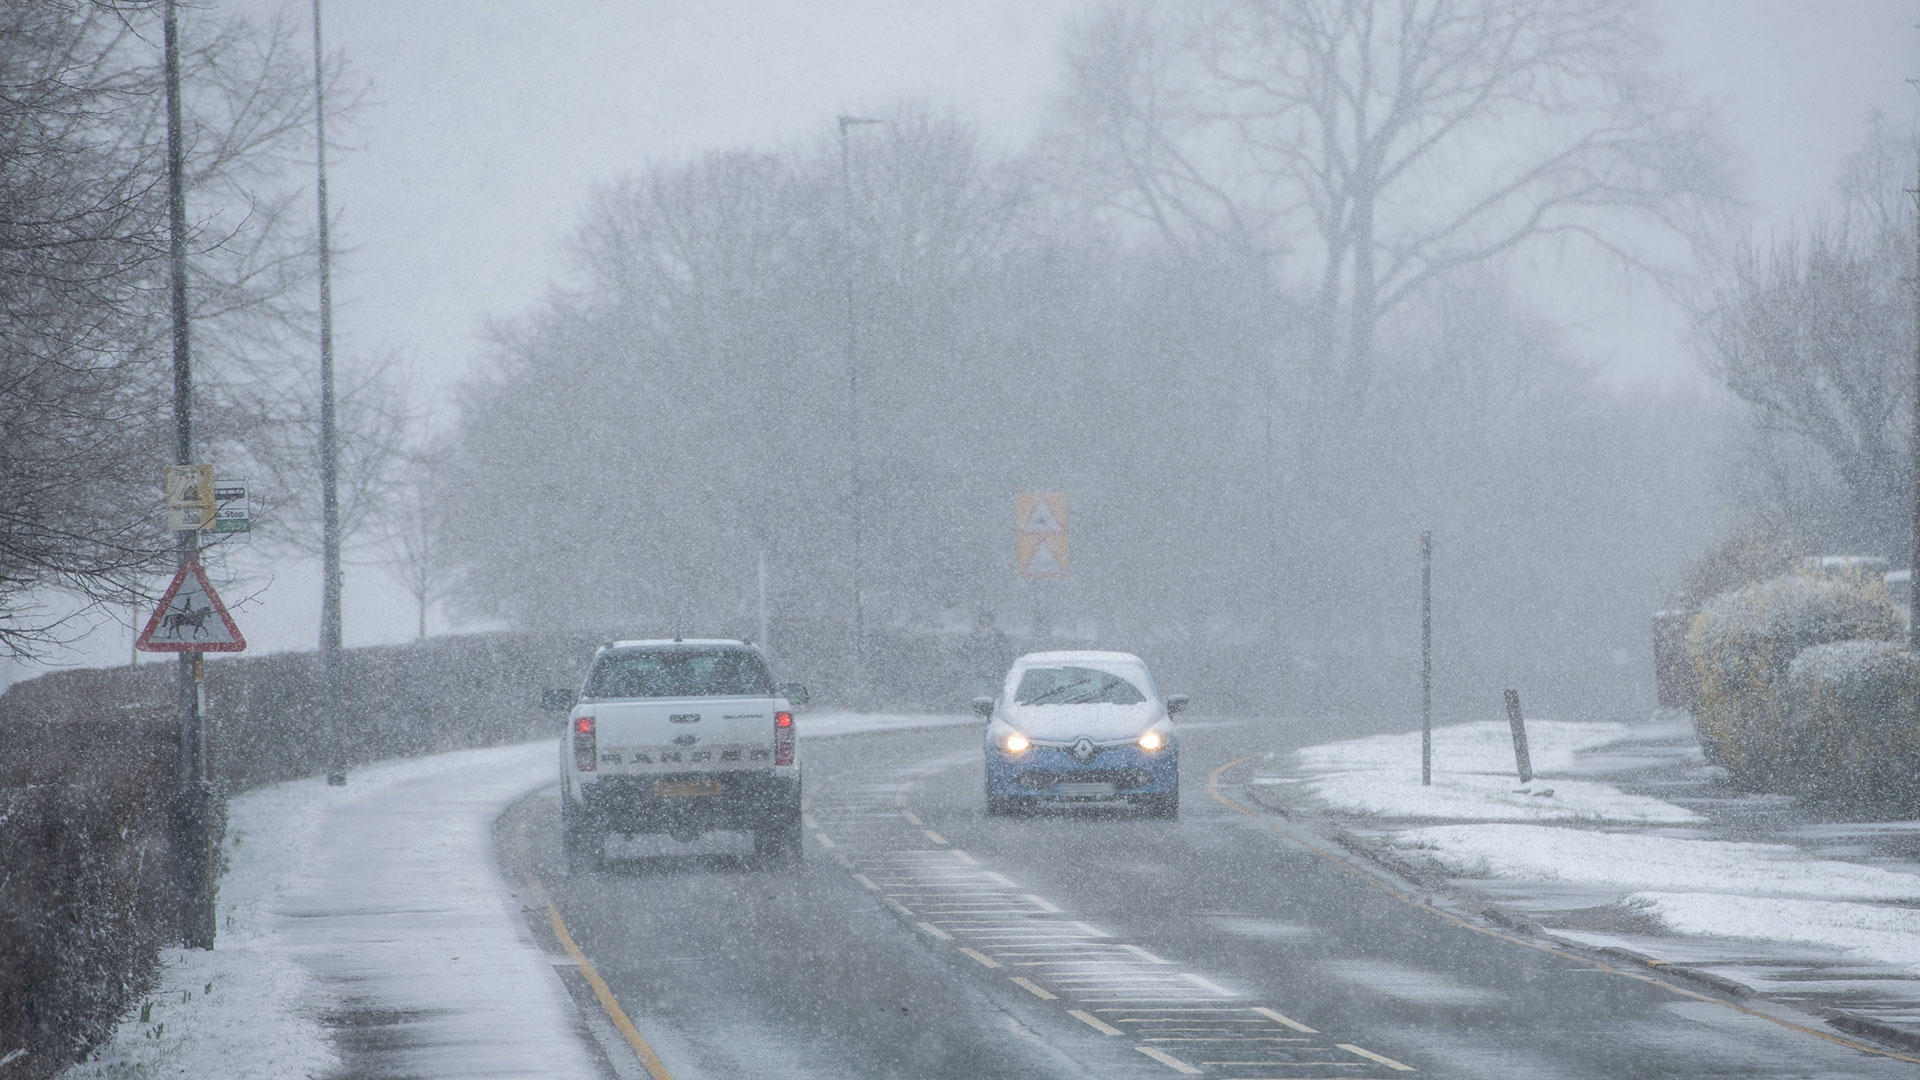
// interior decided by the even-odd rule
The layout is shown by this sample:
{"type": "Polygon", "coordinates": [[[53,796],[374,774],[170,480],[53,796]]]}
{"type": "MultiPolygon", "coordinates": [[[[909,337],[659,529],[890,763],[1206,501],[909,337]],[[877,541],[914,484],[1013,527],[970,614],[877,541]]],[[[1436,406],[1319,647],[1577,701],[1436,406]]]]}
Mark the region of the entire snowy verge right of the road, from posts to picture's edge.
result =
{"type": "Polygon", "coordinates": [[[1592,905],[1615,913],[1605,922],[1657,934],[1809,945],[1920,972],[1920,874],[1718,840],[1688,807],[1576,778],[1599,773],[1582,753],[1634,738],[1632,726],[1532,721],[1526,732],[1526,786],[1505,723],[1434,730],[1432,788],[1419,780],[1419,732],[1311,746],[1296,771],[1256,784],[1283,805],[1363,817],[1400,859],[1500,882],[1500,896],[1530,896],[1540,911],[1592,905]]]}

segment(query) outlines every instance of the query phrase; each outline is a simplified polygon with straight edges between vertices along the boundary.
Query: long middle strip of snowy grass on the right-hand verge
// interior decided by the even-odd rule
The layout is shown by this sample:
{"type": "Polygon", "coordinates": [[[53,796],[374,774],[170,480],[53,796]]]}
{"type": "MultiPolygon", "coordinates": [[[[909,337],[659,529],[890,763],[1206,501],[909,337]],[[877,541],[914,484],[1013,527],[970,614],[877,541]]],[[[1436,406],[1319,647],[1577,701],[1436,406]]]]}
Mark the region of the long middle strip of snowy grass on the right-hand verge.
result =
{"type": "Polygon", "coordinates": [[[1682,840],[1544,824],[1440,824],[1392,838],[1450,872],[1634,890],[1920,901],[1920,876],[1811,859],[1788,844],[1682,840]]]}

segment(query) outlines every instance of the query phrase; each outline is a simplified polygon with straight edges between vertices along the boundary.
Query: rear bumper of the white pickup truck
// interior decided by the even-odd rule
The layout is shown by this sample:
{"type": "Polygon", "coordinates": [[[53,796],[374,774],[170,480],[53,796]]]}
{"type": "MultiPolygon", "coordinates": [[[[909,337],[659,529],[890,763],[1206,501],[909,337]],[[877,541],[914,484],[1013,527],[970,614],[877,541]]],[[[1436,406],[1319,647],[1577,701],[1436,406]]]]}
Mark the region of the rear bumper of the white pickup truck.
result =
{"type": "Polygon", "coordinates": [[[582,813],[595,832],[670,832],[676,828],[758,830],[801,817],[801,778],[778,773],[666,773],[601,776],[582,790],[582,813]],[[710,796],[655,794],[718,782],[710,796]]]}

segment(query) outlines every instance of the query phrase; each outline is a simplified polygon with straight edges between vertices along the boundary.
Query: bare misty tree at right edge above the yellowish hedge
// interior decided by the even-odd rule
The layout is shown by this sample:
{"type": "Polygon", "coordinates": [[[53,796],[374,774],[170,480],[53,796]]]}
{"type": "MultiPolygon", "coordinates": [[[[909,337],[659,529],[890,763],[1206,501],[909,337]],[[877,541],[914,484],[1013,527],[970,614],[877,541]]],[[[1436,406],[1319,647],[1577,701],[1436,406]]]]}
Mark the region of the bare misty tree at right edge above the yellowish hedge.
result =
{"type": "Polygon", "coordinates": [[[1703,365],[1751,409],[1749,482],[1816,538],[1885,553],[1907,550],[1916,150],[1868,117],[1837,209],[1740,248],[1697,317],[1703,365]]]}

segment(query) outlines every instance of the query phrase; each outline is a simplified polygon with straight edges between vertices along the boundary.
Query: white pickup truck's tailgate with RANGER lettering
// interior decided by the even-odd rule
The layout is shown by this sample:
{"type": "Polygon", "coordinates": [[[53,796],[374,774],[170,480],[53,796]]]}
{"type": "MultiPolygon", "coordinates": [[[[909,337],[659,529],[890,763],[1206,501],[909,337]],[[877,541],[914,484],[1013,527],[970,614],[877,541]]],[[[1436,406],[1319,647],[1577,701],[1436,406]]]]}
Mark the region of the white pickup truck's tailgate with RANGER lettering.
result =
{"type": "Polygon", "coordinates": [[[603,774],[728,773],[774,765],[778,698],[645,698],[582,701],[593,717],[603,774]]]}

